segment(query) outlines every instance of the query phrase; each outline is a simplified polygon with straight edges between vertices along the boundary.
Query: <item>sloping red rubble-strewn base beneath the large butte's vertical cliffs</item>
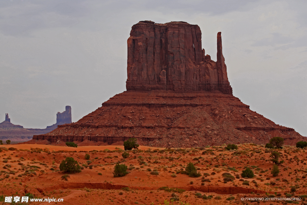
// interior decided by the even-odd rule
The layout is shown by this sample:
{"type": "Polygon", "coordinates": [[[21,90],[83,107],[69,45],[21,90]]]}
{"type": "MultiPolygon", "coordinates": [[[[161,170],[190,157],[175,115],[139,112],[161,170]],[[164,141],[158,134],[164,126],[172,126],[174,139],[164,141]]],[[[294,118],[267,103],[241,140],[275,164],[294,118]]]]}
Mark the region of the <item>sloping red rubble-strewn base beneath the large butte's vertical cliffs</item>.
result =
{"type": "Polygon", "coordinates": [[[195,147],[228,143],[268,143],[280,136],[286,144],[305,140],[221,92],[125,91],[76,123],[59,125],[36,140],[84,140],[112,144],[138,138],[142,145],[195,147]]]}

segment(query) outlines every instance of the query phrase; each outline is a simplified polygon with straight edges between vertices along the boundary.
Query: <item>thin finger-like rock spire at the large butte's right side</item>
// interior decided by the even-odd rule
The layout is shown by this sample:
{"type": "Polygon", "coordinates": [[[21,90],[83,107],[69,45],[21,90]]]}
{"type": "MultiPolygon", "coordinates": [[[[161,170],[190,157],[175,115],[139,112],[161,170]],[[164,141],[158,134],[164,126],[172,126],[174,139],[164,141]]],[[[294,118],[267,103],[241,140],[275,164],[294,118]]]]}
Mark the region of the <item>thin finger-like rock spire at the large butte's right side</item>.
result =
{"type": "MultiPolygon", "coordinates": [[[[216,53],[216,65],[219,76],[219,84],[225,84],[228,82],[227,67],[225,65],[225,58],[222,52],[222,36],[221,32],[217,33],[217,53],[216,53]]],[[[228,82],[229,83],[229,82],[228,82]]]]}

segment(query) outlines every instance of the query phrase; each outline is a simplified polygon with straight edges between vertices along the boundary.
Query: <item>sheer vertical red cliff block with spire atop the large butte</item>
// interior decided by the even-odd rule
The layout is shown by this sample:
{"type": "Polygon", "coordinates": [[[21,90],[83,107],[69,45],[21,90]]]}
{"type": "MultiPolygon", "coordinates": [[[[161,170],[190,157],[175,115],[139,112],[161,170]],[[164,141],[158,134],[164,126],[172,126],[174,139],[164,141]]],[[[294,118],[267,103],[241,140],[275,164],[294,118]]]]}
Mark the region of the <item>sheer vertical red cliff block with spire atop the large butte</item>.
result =
{"type": "Polygon", "coordinates": [[[217,37],[217,62],[201,45],[199,26],[187,22],[132,26],[128,44],[127,90],[214,91],[232,94],[217,37]]]}

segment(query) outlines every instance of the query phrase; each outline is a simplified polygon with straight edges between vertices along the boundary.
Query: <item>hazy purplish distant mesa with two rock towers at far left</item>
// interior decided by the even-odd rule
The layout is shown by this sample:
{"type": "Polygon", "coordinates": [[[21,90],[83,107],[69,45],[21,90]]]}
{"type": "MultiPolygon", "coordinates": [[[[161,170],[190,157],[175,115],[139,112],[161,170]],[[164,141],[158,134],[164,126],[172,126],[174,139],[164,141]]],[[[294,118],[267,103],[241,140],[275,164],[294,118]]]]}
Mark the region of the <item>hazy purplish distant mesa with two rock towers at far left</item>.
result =
{"type": "Polygon", "coordinates": [[[23,128],[10,122],[9,114],[5,114],[5,120],[0,123],[0,140],[11,140],[15,142],[25,142],[32,140],[33,135],[48,133],[57,128],[58,125],[72,123],[72,108],[65,107],[65,111],[56,114],[56,124],[47,126],[45,129],[23,128]]]}

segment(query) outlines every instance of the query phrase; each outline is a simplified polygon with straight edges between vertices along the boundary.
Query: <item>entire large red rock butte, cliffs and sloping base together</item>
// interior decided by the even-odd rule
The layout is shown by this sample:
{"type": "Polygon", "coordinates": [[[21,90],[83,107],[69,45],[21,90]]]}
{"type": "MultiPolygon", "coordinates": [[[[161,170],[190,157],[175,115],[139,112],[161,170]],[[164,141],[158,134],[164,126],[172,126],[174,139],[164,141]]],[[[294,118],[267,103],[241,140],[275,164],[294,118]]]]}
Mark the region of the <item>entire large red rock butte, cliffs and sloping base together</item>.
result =
{"type": "Polygon", "coordinates": [[[274,136],[290,145],[306,140],[232,95],[221,32],[217,62],[205,55],[199,26],[186,22],[140,21],[132,26],[127,45],[127,91],[76,123],[33,136],[31,143],[120,145],[135,137],[147,146],[199,147],[265,144],[274,136]]]}

